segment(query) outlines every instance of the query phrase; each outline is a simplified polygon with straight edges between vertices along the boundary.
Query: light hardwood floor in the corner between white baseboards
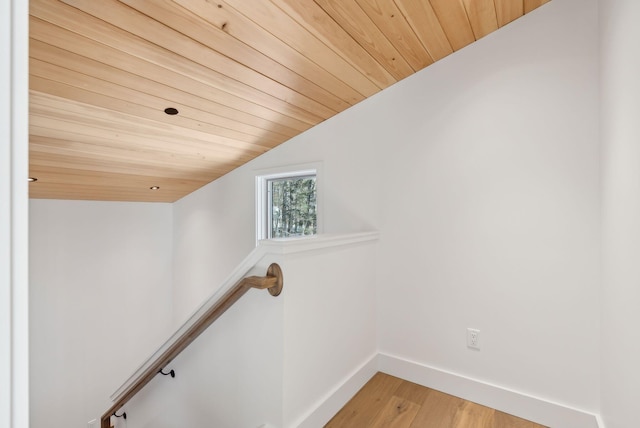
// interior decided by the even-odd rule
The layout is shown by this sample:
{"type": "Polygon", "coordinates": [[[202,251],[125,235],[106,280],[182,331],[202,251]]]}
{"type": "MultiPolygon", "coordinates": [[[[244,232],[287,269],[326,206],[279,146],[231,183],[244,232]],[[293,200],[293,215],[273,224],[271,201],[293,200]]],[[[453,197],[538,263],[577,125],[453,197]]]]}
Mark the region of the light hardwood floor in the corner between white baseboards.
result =
{"type": "Polygon", "coordinates": [[[377,373],[325,428],[544,428],[434,389],[377,373]]]}

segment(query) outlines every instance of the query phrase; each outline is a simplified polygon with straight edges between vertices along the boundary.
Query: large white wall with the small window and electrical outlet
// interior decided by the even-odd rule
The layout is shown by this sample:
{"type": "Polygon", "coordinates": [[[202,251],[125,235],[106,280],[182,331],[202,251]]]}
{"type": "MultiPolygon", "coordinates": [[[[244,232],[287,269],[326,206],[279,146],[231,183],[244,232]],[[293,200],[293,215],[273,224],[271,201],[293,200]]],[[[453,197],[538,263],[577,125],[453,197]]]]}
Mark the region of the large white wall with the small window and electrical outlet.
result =
{"type": "Polygon", "coordinates": [[[255,174],[321,162],[325,232],[381,232],[382,351],[596,411],[598,156],[597,3],[554,0],[177,202],[177,319],[253,246],[255,174]]]}

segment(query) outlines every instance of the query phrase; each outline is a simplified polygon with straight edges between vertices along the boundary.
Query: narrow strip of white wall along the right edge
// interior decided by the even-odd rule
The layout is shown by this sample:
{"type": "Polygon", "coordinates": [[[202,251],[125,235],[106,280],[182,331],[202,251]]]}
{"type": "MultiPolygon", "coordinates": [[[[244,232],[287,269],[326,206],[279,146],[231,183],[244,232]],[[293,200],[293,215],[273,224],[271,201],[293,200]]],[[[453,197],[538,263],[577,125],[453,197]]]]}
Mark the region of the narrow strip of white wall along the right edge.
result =
{"type": "Polygon", "coordinates": [[[636,426],[640,401],[640,3],[601,0],[604,282],[602,414],[636,426]]]}

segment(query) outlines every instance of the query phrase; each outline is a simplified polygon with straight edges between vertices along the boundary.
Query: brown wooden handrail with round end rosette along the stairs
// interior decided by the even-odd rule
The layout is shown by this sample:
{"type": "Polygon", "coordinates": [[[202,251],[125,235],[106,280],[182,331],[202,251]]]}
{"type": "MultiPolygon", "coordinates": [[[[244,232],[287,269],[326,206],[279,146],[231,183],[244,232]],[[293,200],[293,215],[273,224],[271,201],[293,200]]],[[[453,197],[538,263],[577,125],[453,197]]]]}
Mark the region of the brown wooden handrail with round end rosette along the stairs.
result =
{"type": "Polygon", "coordinates": [[[260,290],[267,289],[272,296],[278,296],[282,291],[283,277],[280,266],[272,263],[267,269],[266,276],[249,276],[238,281],[229,291],[221,296],[209,310],[198,318],[198,320],[183,332],[180,337],[168,347],[147,369],[132,383],[120,398],[113,403],[100,418],[101,428],[112,428],[111,416],[124,406],[133,396],[153,379],[160,370],[169,364],[175,357],[191,344],[203,331],[207,329],[216,319],[226,312],[235,302],[237,302],[251,288],[260,290]]]}

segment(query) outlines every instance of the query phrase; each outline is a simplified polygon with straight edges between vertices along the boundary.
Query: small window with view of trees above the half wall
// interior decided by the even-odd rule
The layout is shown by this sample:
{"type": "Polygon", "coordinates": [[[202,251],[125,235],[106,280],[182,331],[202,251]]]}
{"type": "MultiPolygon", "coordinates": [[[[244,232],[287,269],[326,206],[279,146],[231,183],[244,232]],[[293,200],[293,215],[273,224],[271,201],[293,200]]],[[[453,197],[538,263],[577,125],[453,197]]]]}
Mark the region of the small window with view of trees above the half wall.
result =
{"type": "Polygon", "coordinates": [[[258,177],[258,239],[318,233],[316,170],[258,177]]]}

